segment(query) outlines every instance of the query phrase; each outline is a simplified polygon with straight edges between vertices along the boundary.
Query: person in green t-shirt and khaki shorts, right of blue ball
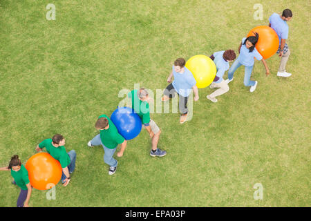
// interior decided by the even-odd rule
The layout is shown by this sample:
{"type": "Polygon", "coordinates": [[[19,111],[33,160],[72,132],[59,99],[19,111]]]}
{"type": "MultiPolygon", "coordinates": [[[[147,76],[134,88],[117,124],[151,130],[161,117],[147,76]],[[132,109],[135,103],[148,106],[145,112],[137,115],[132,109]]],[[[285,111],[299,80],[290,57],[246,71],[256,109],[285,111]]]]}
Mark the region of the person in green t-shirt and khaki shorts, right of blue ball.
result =
{"type": "Polygon", "coordinates": [[[140,116],[142,119],[142,124],[144,128],[148,131],[151,138],[151,151],[150,155],[152,157],[163,157],[167,154],[167,151],[162,151],[158,148],[158,142],[160,139],[160,128],[152,119],[150,119],[150,110],[149,110],[149,93],[145,88],[140,88],[140,90],[132,90],[128,93],[128,97],[131,98],[132,108],[135,113],[140,116]]]}

